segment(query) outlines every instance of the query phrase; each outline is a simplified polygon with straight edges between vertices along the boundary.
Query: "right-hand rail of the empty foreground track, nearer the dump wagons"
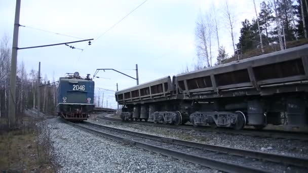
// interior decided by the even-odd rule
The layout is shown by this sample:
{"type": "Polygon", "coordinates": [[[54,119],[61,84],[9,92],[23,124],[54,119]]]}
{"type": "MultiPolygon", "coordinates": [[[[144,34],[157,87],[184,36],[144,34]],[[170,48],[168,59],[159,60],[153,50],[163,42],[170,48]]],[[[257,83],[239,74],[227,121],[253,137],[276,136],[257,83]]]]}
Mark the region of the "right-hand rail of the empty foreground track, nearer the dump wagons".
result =
{"type": "Polygon", "coordinates": [[[148,135],[143,134],[139,132],[132,132],[125,129],[110,127],[102,124],[97,124],[93,122],[85,122],[89,125],[94,125],[100,128],[107,128],[111,131],[118,131],[123,132],[127,134],[134,134],[135,136],[144,136],[146,138],[159,140],[167,143],[172,144],[178,144],[178,145],[184,145],[188,147],[196,147],[199,149],[205,149],[209,151],[215,151],[219,153],[225,153],[225,154],[231,154],[231,155],[237,155],[237,156],[245,156],[245,157],[251,157],[255,159],[260,160],[266,160],[266,161],[272,161],[276,163],[285,163],[295,166],[301,166],[301,167],[307,167],[308,168],[308,158],[299,158],[299,157],[292,157],[287,155],[279,155],[279,154],[272,154],[272,153],[265,153],[265,152],[259,152],[259,151],[252,151],[252,150],[244,150],[244,149],[237,149],[237,148],[231,148],[231,147],[223,147],[223,146],[217,146],[217,145],[210,145],[210,144],[203,144],[203,143],[197,143],[197,142],[190,142],[190,141],[184,141],[184,140],[178,140],[173,138],[166,138],[166,137],[160,137],[155,135],[148,135]]]}

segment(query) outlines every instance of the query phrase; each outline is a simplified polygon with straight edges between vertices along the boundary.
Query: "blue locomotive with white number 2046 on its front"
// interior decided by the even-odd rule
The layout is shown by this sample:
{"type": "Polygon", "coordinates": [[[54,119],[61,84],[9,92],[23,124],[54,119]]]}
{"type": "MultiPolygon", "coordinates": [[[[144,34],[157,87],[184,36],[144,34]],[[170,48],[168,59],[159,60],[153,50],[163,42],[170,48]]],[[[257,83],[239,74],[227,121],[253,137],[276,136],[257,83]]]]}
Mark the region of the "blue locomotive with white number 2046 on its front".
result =
{"type": "Polygon", "coordinates": [[[67,120],[87,120],[94,110],[94,81],[78,72],[60,77],[57,112],[67,120]]]}

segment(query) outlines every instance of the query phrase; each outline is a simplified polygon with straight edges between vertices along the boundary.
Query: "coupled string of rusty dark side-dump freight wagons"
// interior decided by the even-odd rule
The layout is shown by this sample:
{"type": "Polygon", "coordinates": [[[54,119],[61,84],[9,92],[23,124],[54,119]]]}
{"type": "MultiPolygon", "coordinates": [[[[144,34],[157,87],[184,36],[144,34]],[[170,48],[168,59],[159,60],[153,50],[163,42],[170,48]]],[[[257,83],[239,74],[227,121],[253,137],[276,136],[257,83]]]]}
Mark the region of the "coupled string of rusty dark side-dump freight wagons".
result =
{"type": "Polygon", "coordinates": [[[241,129],[308,124],[308,45],[119,91],[123,119],[241,129]]]}

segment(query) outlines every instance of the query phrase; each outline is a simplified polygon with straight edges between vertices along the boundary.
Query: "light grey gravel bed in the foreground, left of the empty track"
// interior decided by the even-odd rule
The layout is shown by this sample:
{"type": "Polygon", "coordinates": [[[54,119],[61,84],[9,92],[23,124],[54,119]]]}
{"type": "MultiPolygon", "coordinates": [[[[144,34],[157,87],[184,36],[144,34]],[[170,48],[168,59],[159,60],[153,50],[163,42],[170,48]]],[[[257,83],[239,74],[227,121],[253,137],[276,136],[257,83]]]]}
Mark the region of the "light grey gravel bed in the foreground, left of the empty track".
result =
{"type": "Polygon", "coordinates": [[[58,172],[218,172],[85,132],[60,118],[47,121],[58,172]]]}

